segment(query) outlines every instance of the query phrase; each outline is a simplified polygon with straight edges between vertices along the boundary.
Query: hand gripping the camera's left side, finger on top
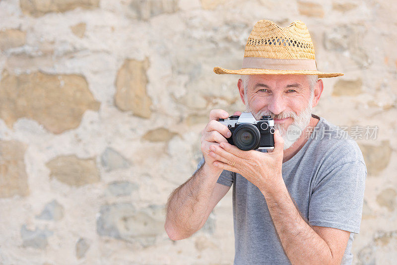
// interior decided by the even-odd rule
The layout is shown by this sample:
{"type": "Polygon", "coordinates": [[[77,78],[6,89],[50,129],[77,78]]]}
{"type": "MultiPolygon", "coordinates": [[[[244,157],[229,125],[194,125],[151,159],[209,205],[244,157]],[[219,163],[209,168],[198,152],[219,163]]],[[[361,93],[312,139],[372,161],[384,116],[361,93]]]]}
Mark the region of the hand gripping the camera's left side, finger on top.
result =
{"type": "MultiPolygon", "coordinates": [[[[234,115],[241,115],[241,112],[236,111],[234,115]]],[[[209,155],[211,150],[209,147],[211,145],[216,145],[219,147],[219,143],[226,142],[231,136],[230,130],[217,120],[219,118],[228,118],[229,114],[224,110],[211,110],[209,112],[209,123],[205,126],[204,130],[201,132],[201,152],[204,156],[205,166],[212,172],[220,172],[222,169],[215,167],[213,162],[216,160],[209,155]],[[228,134],[230,133],[230,134],[228,134]]]]}

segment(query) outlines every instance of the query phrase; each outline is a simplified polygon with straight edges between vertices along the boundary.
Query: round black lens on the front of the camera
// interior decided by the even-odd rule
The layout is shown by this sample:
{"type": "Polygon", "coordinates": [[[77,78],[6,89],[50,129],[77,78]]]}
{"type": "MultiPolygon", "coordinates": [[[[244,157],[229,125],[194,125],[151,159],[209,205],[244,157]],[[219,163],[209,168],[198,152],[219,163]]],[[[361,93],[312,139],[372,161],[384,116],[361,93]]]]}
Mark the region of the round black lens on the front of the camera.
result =
{"type": "Polygon", "coordinates": [[[241,124],[233,133],[233,142],[241,150],[257,149],[261,134],[252,124],[241,124]]]}

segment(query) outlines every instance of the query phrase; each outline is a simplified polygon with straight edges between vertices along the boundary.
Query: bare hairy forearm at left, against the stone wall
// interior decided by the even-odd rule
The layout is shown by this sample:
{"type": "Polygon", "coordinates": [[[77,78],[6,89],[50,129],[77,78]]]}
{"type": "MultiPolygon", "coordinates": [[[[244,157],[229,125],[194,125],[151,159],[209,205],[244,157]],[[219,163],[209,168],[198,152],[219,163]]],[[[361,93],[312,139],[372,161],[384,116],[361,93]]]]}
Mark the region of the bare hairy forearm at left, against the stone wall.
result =
{"type": "Polygon", "coordinates": [[[184,239],[199,230],[221,172],[208,171],[204,163],[190,179],[171,193],[165,221],[165,229],[171,239],[184,239]]]}

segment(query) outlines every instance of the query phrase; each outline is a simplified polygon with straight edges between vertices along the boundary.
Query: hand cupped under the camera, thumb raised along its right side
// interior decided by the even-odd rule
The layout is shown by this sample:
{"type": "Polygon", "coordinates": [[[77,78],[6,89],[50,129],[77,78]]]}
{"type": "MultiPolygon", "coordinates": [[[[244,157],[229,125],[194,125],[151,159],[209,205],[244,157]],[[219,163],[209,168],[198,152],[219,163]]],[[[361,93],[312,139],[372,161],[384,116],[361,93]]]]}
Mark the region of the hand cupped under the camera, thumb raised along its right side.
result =
{"type": "Polygon", "coordinates": [[[212,145],[210,150],[215,167],[239,173],[261,192],[271,191],[283,183],[281,169],[284,140],[278,130],[274,133],[274,149],[270,153],[243,151],[228,142],[221,142],[219,146],[212,145]]]}

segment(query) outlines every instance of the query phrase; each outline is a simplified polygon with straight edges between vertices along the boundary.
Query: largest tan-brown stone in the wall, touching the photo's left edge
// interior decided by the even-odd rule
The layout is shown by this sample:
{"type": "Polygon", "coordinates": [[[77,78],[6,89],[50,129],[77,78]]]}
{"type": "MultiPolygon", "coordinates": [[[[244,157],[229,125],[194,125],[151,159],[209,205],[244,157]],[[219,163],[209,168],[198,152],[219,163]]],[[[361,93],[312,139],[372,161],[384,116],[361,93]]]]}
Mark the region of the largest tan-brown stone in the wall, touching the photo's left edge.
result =
{"type": "Polygon", "coordinates": [[[86,110],[97,111],[99,106],[81,75],[2,72],[0,118],[11,129],[25,117],[52,133],[63,133],[77,128],[86,110]]]}

